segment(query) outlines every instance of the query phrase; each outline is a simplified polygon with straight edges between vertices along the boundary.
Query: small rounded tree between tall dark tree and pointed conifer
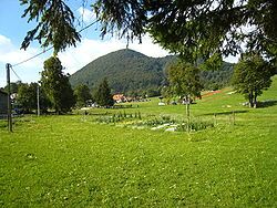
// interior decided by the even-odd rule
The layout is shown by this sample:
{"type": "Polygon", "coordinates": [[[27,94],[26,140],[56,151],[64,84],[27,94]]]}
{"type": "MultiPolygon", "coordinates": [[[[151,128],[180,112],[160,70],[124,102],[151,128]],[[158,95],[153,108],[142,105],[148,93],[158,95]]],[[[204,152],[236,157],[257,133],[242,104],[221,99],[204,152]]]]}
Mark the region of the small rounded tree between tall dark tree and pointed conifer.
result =
{"type": "Polygon", "coordinates": [[[74,95],[78,107],[84,107],[86,105],[86,101],[92,98],[89,86],[84,84],[80,84],[75,87],[74,95]]]}

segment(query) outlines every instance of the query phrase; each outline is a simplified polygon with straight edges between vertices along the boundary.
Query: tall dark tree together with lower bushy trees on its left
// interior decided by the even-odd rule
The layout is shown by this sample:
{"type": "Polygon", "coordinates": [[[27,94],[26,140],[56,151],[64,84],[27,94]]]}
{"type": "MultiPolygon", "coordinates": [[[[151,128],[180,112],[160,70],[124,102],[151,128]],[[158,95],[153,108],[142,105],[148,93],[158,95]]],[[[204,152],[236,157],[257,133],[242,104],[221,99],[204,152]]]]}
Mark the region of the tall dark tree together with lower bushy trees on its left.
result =
{"type": "Polygon", "coordinates": [[[17,93],[14,107],[31,113],[39,106],[42,112],[54,110],[57,114],[66,113],[75,104],[69,75],[55,56],[44,62],[39,83],[12,83],[12,93],[17,93]]]}

